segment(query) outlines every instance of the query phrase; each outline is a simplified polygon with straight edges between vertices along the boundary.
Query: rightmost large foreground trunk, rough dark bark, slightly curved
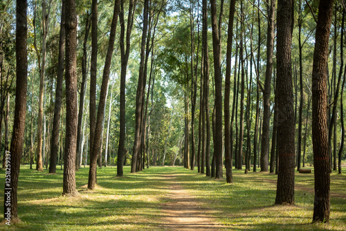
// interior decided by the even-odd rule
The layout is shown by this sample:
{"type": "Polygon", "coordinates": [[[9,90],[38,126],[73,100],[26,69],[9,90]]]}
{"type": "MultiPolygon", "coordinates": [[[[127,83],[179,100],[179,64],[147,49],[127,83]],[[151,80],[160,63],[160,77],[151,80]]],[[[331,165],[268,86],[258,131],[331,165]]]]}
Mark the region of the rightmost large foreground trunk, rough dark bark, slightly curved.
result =
{"type": "MultiPolygon", "coordinates": [[[[312,69],[312,143],[315,174],[313,221],[329,222],[330,168],[327,127],[327,63],[334,1],[320,0],[312,69]]],[[[281,169],[280,169],[281,171],[281,169]]]]}

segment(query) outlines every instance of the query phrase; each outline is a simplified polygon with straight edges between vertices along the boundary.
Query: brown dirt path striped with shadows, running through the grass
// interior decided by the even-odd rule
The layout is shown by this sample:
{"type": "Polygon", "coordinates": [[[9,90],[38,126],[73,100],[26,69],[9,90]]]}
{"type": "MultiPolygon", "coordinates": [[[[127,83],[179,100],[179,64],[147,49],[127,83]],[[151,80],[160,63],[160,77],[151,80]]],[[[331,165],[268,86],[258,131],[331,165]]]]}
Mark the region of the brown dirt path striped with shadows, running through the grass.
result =
{"type": "Polygon", "coordinates": [[[203,207],[176,181],[176,176],[167,175],[170,181],[170,193],[167,203],[163,204],[164,230],[223,230],[212,217],[213,211],[203,207]]]}

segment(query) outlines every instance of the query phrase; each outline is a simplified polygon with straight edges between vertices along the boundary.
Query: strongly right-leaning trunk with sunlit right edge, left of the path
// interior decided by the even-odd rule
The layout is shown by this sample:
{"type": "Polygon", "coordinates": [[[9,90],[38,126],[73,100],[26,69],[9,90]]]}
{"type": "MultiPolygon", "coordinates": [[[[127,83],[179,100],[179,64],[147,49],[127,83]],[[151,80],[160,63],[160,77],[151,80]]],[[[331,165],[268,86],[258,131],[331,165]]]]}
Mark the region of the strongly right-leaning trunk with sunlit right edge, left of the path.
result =
{"type": "Polygon", "coordinates": [[[90,151],[90,168],[89,168],[89,181],[88,189],[93,190],[96,183],[96,167],[97,160],[100,154],[100,145],[102,144],[102,133],[104,123],[104,113],[107,100],[108,84],[109,84],[109,71],[111,68],[111,57],[113,55],[113,47],[116,39],[116,25],[118,23],[118,14],[120,11],[120,0],[114,2],[113,19],[111,21],[111,32],[109,35],[109,44],[107,55],[104,62],[102,84],[100,91],[100,102],[98,103],[98,117],[95,124],[95,133],[93,138],[93,146],[90,151]]]}

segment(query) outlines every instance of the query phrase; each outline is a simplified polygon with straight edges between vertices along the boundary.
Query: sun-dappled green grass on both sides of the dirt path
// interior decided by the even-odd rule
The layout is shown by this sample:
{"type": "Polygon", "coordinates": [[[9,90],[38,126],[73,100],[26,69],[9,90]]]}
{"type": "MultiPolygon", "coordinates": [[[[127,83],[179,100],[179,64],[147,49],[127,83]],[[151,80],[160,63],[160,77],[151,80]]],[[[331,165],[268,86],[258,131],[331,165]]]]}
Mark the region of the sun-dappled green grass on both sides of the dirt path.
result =
{"type": "MultiPolygon", "coordinates": [[[[346,176],[331,174],[331,221],[311,224],[313,174],[296,174],[295,206],[273,206],[277,176],[233,171],[235,183],[210,179],[183,167],[150,167],[116,177],[116,168],[98,169],[98,186],[86,190],[89,168],[77,172],[80,196],[63,197],[62,170],[57,174],[21,167],[19,218],[21,223],[0,230],[163,230],[163,203],[176,174],[185,190],[229,230],[346,230],[346,176]]],[[[4,172],[0,172],[3,182],[4,172]]],[[[3,184],[0,184],[3,192],[3,184]]],[[[3,196],[0,197],[3,204],[3,196]]],[[[1,210],[3,211],[3,210],[1,210]]]]}

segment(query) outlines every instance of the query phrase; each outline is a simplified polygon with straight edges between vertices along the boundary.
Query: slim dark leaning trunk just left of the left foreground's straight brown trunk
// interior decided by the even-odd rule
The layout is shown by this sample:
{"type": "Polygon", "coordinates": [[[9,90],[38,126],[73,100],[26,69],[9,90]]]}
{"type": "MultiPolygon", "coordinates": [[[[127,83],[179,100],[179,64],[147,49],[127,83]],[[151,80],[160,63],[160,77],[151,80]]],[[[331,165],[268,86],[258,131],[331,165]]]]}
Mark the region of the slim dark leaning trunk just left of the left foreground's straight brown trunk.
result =
{"type": "Polygon", "coordinates": [[[55,104],[53,129],[51,140],[51,160],[49,173],[55,173],[57,167],[57,150],[59,149],[60,109],[62,105],[62,80],[64,77],[64,53],[65,53],[65,0],[62,0],[62,15],[60,21],[59,55],[57,59],[57,83],[55,89],[55,104]]]}

